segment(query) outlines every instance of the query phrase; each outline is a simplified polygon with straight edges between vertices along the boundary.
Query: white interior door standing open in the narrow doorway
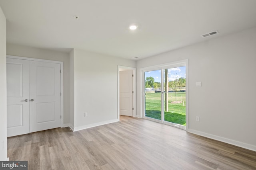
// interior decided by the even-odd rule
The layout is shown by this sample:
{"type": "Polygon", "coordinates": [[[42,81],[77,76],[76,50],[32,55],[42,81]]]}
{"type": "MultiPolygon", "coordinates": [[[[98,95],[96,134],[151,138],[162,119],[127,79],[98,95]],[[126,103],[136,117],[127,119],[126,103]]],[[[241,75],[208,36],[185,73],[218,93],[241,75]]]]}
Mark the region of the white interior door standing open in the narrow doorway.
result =
{"type": "Polygon", "coordinates": [[[133,114],[133,86],[132,70],[119,72],[120,115],[132,116],[133,114]]]}

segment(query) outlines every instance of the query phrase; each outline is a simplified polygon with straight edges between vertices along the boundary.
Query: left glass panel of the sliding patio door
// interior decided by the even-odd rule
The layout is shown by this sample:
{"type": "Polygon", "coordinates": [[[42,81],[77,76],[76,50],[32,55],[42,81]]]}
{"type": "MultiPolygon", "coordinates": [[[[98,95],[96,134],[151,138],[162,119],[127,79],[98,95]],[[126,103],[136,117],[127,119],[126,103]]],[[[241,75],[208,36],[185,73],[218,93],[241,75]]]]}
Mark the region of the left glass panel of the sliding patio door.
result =
{"type": "Polygon", "coordinates": [[[161,70],[144,72],[145,117],[161,120],[161,70]]]}

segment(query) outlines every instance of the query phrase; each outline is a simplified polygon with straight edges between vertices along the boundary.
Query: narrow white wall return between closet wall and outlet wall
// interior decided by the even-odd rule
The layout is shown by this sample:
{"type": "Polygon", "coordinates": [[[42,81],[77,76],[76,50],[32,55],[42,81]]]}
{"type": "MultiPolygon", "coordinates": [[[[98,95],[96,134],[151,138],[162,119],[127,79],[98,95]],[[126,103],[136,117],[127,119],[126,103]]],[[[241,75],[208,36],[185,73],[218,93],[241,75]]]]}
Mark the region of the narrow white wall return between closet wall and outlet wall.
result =
{"type": "Polygon", "coordinates": [[[74,128],[74,49],[72,49],[72,51],[70,51],[69,53],[69,92],[70,92],[70,104],[69,104],[69,108],[70,108],[70,127],[73,129],[74,128]]]}

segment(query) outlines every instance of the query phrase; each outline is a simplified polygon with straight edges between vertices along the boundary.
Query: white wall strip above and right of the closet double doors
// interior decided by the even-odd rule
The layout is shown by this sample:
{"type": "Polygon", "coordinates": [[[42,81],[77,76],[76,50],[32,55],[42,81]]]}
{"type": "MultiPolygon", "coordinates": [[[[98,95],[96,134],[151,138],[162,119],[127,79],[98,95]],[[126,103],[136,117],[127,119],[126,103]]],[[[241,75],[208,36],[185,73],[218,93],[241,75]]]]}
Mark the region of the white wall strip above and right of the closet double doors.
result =
{"type": "Polygon", "coordinates": [[[7,55],[63,62],[64,124],[69,123],[69,54],[7,43],[7,55]]]}

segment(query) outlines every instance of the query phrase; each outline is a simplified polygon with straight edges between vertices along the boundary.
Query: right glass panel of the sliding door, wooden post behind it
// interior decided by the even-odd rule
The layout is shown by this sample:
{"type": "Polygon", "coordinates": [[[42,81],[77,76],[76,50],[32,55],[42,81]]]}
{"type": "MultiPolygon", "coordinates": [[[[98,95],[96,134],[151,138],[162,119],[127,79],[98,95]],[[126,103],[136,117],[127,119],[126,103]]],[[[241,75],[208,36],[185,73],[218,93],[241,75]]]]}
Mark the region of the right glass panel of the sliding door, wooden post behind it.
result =
{"type": "Polygon", "coordinates": [[[186,66],[164,69],[164,121],[186,126],[186,66]]]}

